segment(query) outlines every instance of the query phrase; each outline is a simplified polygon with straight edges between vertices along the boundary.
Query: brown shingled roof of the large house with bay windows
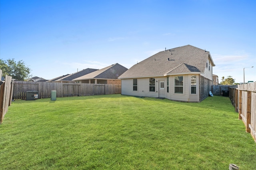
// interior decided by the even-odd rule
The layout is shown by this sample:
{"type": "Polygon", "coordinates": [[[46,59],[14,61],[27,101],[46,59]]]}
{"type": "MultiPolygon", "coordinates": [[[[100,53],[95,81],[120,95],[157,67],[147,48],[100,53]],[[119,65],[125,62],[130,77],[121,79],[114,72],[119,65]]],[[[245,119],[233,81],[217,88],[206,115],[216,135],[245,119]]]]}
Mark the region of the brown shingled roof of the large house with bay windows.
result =
{"type": "Polygon", "coordinates": [[[204,49],[192,45],[166,49],[133,65],[118,78],[202,73],[205,70],[208,57],[212,66],[215,66],[210,52],[204,49]]]}

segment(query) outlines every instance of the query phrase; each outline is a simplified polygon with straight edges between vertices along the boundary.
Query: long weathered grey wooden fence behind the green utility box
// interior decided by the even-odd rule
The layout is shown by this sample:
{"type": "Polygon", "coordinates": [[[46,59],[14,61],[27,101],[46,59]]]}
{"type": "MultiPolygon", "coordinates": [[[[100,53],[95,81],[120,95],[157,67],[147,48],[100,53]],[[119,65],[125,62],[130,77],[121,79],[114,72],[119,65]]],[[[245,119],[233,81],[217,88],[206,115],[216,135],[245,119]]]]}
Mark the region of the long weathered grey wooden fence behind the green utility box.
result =
{"type": "Polygon", "coordinates": [[[26,99],[27,91],[38,91],[38,99],[50,98],[51,91],[56,97],[110,95],[121,93],[121,85],[14,81],[12,99],[26,99]]]}

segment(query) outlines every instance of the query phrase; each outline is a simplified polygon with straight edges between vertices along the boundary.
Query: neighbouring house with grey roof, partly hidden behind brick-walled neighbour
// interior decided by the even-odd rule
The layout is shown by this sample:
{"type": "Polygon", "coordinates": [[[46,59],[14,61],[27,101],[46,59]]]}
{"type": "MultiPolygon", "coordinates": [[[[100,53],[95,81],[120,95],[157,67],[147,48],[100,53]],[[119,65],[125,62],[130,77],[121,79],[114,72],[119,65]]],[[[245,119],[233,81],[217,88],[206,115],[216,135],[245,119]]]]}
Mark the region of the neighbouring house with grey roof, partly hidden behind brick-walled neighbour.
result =
{"type": "Polygon", "coordinates": [[[76,79],[78,77],[81,77],[83,75],[92,73],[92,72],[97,71],[97,70],[98,69],[87,68],[87,69],[83,69],[81,71],[78,71],[76,73],[72,73],[72,74],[67,74],[67,75],[63,75],[63,76],[60,76],[60,77],[56,77],[54,79],[49,80],[48,82],[54,81],[54,82],[60,82],[60,83],[74,83],[75,81],[72,81],[73,79],[76,79]]]}

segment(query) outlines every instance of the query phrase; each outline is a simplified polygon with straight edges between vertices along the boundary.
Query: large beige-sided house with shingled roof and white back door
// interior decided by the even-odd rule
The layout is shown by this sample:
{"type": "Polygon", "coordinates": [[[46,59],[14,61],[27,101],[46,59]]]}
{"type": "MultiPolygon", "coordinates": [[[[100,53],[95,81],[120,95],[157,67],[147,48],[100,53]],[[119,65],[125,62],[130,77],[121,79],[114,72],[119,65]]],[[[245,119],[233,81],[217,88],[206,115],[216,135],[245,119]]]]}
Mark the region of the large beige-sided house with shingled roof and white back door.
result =
{"type": "Polygon", "coordinates": [[[212,87],[209,51],[185,45],[166,49],[133,65],[118,79],[122,95],[200,102],[212,87]]]}

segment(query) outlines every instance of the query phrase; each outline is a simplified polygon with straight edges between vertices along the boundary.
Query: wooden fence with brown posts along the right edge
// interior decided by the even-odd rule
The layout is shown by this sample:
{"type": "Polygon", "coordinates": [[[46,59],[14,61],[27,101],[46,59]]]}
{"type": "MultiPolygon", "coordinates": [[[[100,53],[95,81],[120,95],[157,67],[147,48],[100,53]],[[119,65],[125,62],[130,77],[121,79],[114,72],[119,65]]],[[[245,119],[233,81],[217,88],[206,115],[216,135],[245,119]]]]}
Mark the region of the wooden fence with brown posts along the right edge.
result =
{"type": "Polygon", "coordinates": [[[238,85],[237,88],[229,87],[229,97],[239,113],[239,119],[246,125],[256,142],[256,82],[238,85]]]}

